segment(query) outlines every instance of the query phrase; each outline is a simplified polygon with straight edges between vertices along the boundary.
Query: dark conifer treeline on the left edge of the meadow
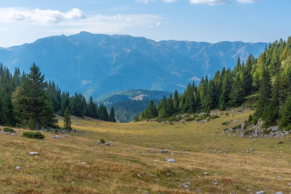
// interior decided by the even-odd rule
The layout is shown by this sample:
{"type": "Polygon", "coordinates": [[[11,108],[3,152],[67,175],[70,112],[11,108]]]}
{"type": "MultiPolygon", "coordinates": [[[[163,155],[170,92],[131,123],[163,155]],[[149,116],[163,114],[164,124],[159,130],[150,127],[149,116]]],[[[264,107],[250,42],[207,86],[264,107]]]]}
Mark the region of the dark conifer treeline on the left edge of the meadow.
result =
{"type": "Polygon", "coordinates": [[[81,94],[61,92],[54,81],[45,81],[34,63],[29,74],[21,73],[19,68],[12,74],[0,63],[0,125],[60,128],[55,113],[64,116],[66,109],[75,116],[115,122],[113,107],[108,115],[106,107],[98,107],[92,97],[87,102],[81,94]]]}

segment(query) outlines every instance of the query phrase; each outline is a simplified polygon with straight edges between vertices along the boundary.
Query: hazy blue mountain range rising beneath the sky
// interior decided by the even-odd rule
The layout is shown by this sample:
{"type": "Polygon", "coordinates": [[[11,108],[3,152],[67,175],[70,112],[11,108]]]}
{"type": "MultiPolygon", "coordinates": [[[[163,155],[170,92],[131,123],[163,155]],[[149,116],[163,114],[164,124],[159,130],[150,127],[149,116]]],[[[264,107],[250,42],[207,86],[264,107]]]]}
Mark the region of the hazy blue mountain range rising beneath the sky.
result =
{"type": "Polygon", "coordinates": [[[0,48],[0,61],[28,72],[35,62],[63,90],[97,98],[111,92],[147,89],[183,92],[188,82],[212,76],[237,57],[256,57],[266,43],[160,41],[129,35],[81,32],[0,48]]]}

